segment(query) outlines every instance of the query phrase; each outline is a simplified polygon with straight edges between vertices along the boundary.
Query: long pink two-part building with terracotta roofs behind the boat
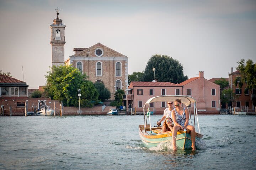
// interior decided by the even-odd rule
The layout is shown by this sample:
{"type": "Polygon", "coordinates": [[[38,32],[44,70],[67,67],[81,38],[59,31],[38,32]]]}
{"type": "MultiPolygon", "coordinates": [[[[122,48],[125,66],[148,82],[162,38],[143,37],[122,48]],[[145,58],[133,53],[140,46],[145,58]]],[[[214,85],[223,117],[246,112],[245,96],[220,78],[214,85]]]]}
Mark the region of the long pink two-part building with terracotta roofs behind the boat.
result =
{"type": "MultiPolygon", "coordinates": [[[[133,81],[127,91],[124,106],[133,108],[133,111],[136,109],[136,112],[143,112],[143,106],[149,98],[161,95],[192,96],[197,101],[198,111],[203,113],[219,113],[220,110],[220,86],[205,79],[203,72],[199,72],[199,77],[190,78],[180,84],[133,81]]],[[[166,107],[166,101],[150,103],[150,111],[154,114],[162,114],[166,107]]]]}

